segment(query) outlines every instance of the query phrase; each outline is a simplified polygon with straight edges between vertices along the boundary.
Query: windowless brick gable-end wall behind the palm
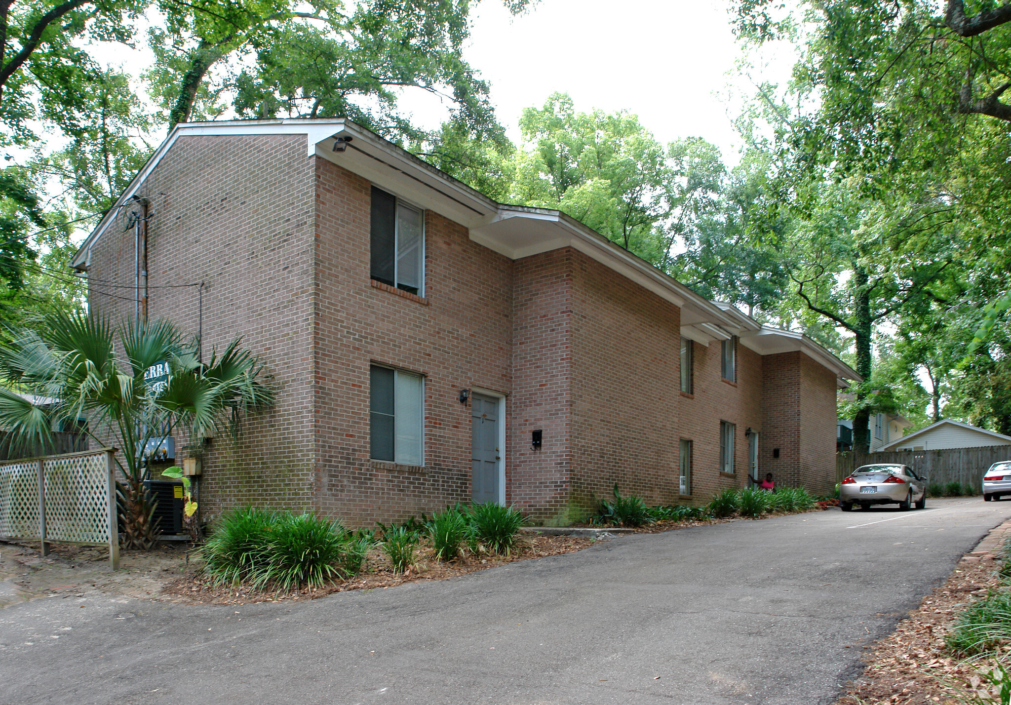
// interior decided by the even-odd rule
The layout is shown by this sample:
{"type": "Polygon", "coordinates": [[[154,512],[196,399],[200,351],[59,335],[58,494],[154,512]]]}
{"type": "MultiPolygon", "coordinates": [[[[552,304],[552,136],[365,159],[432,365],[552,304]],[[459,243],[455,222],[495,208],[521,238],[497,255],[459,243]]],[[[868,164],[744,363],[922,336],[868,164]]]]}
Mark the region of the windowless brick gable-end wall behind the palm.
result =
{"type": "MultiPolygon", "coordinates": [[[[150,201],[150,318],[195,336],[205,282],[203,352],[243,337],[277,390],[269,413],[246,421],[238,444],[226,429],[204,458],[204,519],[228,506],[311,506],[312,194],[304,137],[180,138],[145,181],[150,201]]],[[[128,208],[92,249],[92,311],[132,318],[133,232],[128,208]],[[114,283],[110,283],[114,282],[114,283]],[[112,296],[108,295],[112,294],[112,296]]],[[[177,459],[186,439],[177,435],[177,459]]]]}

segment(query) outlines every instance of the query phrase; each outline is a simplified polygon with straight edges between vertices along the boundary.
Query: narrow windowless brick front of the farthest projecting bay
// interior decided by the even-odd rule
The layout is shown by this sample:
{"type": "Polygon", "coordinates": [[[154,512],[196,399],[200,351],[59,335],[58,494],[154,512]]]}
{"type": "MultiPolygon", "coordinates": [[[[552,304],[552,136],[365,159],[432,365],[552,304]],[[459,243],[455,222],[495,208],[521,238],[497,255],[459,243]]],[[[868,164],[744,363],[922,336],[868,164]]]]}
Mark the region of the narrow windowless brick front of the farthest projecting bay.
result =
{"type": "Polygon", "coordinates": [[[811,493],[835,490],[835,373],[801,355],[801,482],[811,493]]]}

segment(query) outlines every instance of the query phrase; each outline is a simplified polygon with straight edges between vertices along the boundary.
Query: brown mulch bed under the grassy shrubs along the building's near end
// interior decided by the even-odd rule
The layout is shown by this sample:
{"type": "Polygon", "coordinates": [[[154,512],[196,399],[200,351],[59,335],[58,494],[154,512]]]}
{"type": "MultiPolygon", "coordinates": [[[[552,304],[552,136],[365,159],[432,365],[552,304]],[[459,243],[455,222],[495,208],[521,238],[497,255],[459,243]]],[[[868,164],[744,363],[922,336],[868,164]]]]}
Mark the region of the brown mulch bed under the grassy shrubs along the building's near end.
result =
{"type": "Polygon", "coordinates": [[[432,555],[432,547],[422,544],[416,554],[415,565],[402,574],[393,572],[386,556],[380,550],[373,549],[369,552],[365,566],[359,575],[317,590],[303,590],[299,593],[258,592],[249,586],[215,587],[211,585],[211,581],[207,577],[200,575],[194,566],[186,575],[168,583],[162,592],[163,598],[196,605],[245,605],[260,602],[315,600],[349,590],[375,590],[420,581],[445,581],[517,560],[571,553],[593,543],[593,539],[577,536],[525,536],[522,539],[520,550],[513,555],[485,553],[475,556],[468,554],[450,562],[436,560],[432,555]]]}

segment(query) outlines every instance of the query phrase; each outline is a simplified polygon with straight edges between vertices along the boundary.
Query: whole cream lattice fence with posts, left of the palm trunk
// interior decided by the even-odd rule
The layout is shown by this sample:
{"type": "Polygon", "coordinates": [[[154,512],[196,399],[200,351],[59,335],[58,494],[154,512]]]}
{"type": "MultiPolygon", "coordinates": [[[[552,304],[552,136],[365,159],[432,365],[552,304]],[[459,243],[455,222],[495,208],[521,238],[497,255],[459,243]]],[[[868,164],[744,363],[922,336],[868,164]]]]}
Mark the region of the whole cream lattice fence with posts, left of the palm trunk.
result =
{"type": "Polygon", "coordinates": [[[0,536],[109,545],[119,567],[114,448],[0,463],[0,536]]]}

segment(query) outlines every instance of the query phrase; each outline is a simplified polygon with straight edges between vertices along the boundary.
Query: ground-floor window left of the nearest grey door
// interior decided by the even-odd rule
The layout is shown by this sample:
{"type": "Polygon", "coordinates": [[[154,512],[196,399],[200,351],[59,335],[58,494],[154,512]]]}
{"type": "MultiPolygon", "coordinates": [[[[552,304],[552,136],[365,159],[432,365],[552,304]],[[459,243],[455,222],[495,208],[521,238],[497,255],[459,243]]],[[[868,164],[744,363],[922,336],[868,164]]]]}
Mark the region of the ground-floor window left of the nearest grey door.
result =
{"type": "Polygon", "coordinates": [[[372,365],[369,382],[372,459],[424,465],[424,378],[391,367],[372,365]]]}

